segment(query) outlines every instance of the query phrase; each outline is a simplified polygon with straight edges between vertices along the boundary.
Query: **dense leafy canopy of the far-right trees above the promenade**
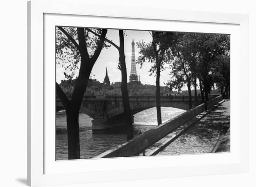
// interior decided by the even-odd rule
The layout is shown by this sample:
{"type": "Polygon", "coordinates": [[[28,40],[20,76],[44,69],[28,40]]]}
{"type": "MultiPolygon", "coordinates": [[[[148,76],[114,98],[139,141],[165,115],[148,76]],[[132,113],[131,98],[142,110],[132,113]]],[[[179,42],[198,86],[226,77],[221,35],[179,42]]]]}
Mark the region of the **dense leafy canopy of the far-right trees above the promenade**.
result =
{"type": "MultiPolygon", "coordinates": [[[[228,53],[229,35],[178,33],[177,42],[171,48],[174,58],[170,64],[171,78],[167,85],[171,89],[181,90],[185,83],[188,84],[188,89],[194,84],[196,90],[198,79],[208,100],[211,88],[222,79],[220,75],[224,72],[221,73],[222,70],[218,67],[228,53]]],[[[226,67],[226,71],[227,69],[229,68],[226,67]]]]}

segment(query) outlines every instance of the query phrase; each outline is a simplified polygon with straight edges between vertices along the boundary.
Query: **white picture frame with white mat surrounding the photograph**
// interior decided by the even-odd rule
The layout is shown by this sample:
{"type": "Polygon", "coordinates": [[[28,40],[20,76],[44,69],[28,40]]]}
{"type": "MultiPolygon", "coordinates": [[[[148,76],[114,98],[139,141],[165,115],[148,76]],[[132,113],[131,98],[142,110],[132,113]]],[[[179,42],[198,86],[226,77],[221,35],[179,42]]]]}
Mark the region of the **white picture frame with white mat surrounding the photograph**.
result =
{"type": "MultiPolygon", "coordinates": [[[[157,179],[192,175],[248,172],[249,124],[248,97],[246,97],[246,95],[248,95],[249,92],[249,60],[247,15],[149,9],[141,7],[131,9],[129,7],[122,6],[106,7],[105,5],[104,7],[101,7],[87,4],[81,0],[32,0],[28,2],[27,18],[28,185],[45,186],[79,184],[89,182],[157,179]],[[88,6],[90,8],[84,8],[88,6]],[[87,19],[88,23],[90,22],[90,19],[93,21],[91,21],[89,25],[85,25],[82,22],[85,18],[89,18],[87,19]],[[67,19],[70,21],[69,23],[67,19]],[[106,19],[108,19],[108,22],[106,22],[106,19]],[[65,20],[65,22],[63,22],[63,20],[65,20]],[[112,23],[110,20],[115,21],[112,23]],[[124,22],[124,20],[126,20],[125,26],[121,25],[121,22],[124,22]],[[234,64],[231,65],[230,153],[215,155],[179,155],[55,161],[53,159],[54,147],[48,146],[52,141],[54,141],[53,138],[55,131],[53,131],[53,129],[55,127],[53,128],[53,124],[48,121],[48,119],[50,119],[48,117],[50,114],[48,115],[49,112],[47,113],[47,111],[54,111],[51,109],[51,105],[48,104],[53,101],[51,99],[54,97],[47,96],[47,93],[49,93],[52,88],[51,86],[48,87],[47,85],[49,84],[47,83],[53,78],[53,72],[55,76],[55,70],[51,70],[51,65],[53,64],[48,65],[45,62],[46,59],[47,62],[53,60],[53,53],[51,53],[52,48],[50,47],[55,45],[55,43],[50,39],[52,36],[52,26],[67,24],[67,26],[97,27],[95,24],[98,24],[98,27],[106,28],[121,27],[123,29],[135,29],[138,26],[141,26],[141,29],[153,30],[152,24],[143,24],[149,22],[154,22],[154,25],[158,24],[159,28],[161,27],[162,30],[165,28],[168,29],[167,27],[164,27],[164,25],[166,25],[164,23],[168,22],[170,24],[177,25],[175,31],[184,31],[183,27],[188,27],[189,24],[190,32],[198,32],[198,29],[204,28],[201,32],[233,33],[231,34],[230,56],[231,63],[234,64]],[[106,23],[108,23],[109,26],[106,26],[106,23]],[[231,31],[231,27],[234,27],[234,32],[231,31]],[[49,35],[47,35],[47,33],[49,33],[49,35]],[[232,40],[232,36],[234,36],[234,40],[232,40]],[[233,44],[237,44],[233,48],[232,41],[234,41],[233,44]],[[236,87],[234,87],[232,86],[232,80],[233,83],[239,82],[240,84],[238,86],[236,84],[236,87]],[[242,85],[243,95],[241,93],[241,89],[239,89],[242,85]],[[233,94],[232,89],[236,89],[236,93],[233,92],[233,94]],[[232,103],[232,98],[234,98],[233,101],[236,100],[237,102],[232,103]],[[234,128],[232,129],[232,127],[234,128]],[[173,163],[171,163],[170,159],[173,163]],[[182,163],[179,162],[181,160],[183,160],[182,163]],[[170,164],[166,164],[169,162],[170,164]],[[125,163],[128,164],[125,165],[125,163]],[[150,166],[148,166],[148,163],[150,163],[150,166]]],[[[53,83],[54,80],[55,79],[53,79],[53,83]]],[[[55,92],[52,94],[55,96],[55,92]]]]}

